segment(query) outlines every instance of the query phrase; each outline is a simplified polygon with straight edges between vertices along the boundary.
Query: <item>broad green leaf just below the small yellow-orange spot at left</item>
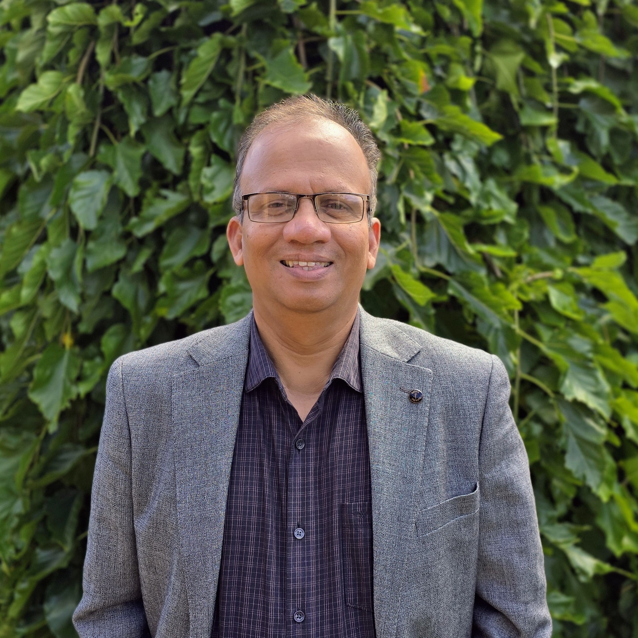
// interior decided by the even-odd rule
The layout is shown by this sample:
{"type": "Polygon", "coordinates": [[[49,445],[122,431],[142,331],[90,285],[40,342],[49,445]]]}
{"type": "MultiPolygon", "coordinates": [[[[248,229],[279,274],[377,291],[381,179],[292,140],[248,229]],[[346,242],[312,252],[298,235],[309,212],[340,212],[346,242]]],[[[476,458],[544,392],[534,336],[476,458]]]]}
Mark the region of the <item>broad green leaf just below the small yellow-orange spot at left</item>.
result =
{"type": "Polygon", "coordinates": [[[33,370],[29,398],[48,422],[56,423],[60,412],[75,399],[79,371],[80,359],[73,350],[51,343],[42,353],[33,370]]]}

